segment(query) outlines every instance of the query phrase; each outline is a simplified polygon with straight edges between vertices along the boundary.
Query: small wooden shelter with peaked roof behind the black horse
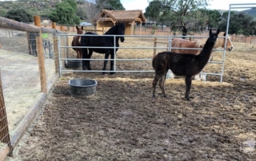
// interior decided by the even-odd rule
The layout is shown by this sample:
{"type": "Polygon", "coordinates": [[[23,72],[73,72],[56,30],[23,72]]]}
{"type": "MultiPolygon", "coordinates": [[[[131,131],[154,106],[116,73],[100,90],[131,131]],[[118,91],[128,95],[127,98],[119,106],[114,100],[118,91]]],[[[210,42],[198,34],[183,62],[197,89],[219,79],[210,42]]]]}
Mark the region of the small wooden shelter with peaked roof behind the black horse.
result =
{"type": "MultiPolygon", "coordinates": [[[[126,23],[126,35],[134,34],[134,25],[140,24],[140,31],[142,30],[142,23],[146,21],[142,10],[104,10],[92,20],[96,25],[96,29],[108,30],[114,26],[116,22],[126,23]]],[[[141,33],[141,32],[140,32],[141,33]]]]}

